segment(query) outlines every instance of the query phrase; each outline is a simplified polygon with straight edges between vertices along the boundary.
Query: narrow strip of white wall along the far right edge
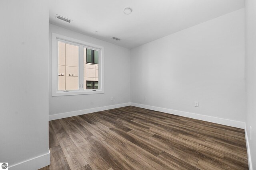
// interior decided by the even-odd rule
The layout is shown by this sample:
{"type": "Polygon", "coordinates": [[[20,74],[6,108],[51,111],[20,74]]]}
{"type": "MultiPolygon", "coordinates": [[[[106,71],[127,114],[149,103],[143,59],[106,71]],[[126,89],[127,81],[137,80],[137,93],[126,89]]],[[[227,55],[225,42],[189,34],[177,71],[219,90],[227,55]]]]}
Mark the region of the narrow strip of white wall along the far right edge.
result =
{"type": "Polygon", "coordinates": [[[245,1],[246,130],[253,168],[256,169],[256,1],[245,1]],[[250,126],[252,140],[250,140],[250,126]]]}

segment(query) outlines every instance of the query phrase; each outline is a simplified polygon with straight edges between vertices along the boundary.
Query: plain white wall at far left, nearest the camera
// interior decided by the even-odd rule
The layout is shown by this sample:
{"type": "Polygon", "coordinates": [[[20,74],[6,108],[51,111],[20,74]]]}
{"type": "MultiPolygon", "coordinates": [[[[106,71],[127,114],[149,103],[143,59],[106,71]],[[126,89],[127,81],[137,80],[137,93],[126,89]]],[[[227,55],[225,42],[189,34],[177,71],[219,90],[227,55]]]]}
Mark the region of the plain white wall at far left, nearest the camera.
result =
{"type": "MultiPolygon", "coordinates": [[[[0,160],[10,169],[48,154],[48,14],[48,0],[0,1],[0,160]]],[[[48,164],[50,154],[26,169],[48,164]]]]}

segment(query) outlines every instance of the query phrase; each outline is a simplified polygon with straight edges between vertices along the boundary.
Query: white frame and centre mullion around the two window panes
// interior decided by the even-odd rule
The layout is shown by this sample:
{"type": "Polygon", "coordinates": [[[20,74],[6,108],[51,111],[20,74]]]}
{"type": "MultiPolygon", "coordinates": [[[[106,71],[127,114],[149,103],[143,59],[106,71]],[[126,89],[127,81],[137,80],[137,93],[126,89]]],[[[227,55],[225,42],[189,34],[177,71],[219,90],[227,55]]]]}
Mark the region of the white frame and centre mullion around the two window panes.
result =
{"type": "MultiPolygon", "coordinates": [[[[85,61],[86,63],[86,61],[85,61]]],[[[52,96],[69,96],[81,94],[101,94],[104,93],[104,47],[92,43],[84,42],[78,39],[66,37],[64,35],[52,33],[52,96]],[[79,45],[79,90],[58,90],[58,41],[79,45]],[[84,48],[99,51],[99,89],[85,89],[84,86],[84,48]]]]}

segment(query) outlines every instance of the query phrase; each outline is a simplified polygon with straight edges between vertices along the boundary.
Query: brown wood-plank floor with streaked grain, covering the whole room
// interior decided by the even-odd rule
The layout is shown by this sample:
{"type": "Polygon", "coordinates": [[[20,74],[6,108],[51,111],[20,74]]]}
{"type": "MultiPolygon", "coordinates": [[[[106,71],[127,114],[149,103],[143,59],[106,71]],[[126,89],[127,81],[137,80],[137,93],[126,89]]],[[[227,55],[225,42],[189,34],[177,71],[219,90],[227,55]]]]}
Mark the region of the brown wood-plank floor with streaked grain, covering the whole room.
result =
{"type": "Polygon", "coordinates": [[[49,122],[44,170],[248,169],[244,130],[128,106],[49,122]]]}

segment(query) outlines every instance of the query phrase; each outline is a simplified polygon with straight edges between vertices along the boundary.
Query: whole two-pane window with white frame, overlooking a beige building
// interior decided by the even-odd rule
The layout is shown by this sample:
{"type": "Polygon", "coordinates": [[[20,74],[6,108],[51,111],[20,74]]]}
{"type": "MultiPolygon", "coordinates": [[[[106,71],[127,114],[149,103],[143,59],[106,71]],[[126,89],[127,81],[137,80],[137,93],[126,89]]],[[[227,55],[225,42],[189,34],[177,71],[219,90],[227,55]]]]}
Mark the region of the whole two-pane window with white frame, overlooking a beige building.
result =
{"type": "Polygon", "coordinates": [[[104,93],[104,48],[52,33],[52,96],[104,93]]]}

